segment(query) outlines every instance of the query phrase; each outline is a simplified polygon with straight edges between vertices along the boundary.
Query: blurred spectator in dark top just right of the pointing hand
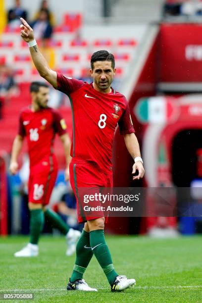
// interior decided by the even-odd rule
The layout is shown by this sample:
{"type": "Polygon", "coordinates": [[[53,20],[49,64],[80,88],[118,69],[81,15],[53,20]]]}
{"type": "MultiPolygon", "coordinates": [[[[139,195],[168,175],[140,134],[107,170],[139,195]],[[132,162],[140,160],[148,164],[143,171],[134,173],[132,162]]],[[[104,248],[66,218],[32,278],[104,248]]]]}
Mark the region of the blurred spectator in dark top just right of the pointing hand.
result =
{"type": "Polygon", "coordinates": [[[35,38],[39,40],[47,40],[51,38],[52,35],[52,26],[49,21],[49,11],[45,8],[42,8],[39,13],[38,19],[36,19],[31,27],[35,31],[35,38]]]}

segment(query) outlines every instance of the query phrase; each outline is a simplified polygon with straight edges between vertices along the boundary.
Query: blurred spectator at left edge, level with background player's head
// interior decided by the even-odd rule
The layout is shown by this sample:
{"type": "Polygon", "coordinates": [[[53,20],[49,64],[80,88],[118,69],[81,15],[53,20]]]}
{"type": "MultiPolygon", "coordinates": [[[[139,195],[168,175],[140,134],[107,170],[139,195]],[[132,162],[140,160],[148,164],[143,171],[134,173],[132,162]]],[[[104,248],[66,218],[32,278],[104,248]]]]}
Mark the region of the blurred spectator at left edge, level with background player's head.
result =
{"type": "Polygon", "coordinates": [[[0,64],[0,117],[2,104],[10,100],[17,93],[13,71],[5,64],[0,64]]]}

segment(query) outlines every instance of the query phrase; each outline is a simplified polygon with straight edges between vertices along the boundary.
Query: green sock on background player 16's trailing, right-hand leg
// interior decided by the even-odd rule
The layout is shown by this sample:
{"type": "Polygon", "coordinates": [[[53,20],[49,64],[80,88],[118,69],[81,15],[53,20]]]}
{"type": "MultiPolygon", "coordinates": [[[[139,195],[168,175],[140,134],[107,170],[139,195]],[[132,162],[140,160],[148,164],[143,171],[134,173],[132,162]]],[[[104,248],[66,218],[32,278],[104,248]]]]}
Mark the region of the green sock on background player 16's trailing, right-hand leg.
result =
{"type": "Polygon", "coordinates": [[[45,219],[50,222],[51,226],[57,228],[63,235],[69,231],[69,226],[62,220],[62,218],[52,209],[46,209],[44,212],[45,219]]]}

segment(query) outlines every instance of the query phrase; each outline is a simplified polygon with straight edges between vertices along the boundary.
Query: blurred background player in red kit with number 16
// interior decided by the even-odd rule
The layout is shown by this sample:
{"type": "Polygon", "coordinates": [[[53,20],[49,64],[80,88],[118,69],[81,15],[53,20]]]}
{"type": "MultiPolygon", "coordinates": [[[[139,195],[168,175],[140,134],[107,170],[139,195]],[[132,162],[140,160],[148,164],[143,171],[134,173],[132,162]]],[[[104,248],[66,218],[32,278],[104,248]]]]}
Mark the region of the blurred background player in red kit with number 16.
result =
{"type": "Polygon", "coordinates": [[[28,188],[28,206],[30,210],[30,243],[16,257],[37,256],[38,242],[46,218],[53,227],[66,235],[67,255],[76,249],[76,240],[80,232],[69,228],[58,214],[47,208],[57,176],[57,161],[53,153],[53,141],[57,133],[62,141],[67,168],[65,179],[69,179],[70,139],[66,133],[65,120],[60,113],[47,106],[49,87],[43,82],[32,82],[30,86],[32,104],[21,110],[18,134],[14,139],[10,172],[18,170],[17,157],[21,151],[23,139],[27,138],[30,158],[30,176],[28,188]]]}

